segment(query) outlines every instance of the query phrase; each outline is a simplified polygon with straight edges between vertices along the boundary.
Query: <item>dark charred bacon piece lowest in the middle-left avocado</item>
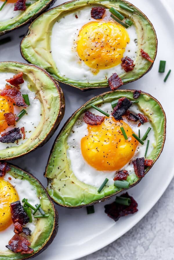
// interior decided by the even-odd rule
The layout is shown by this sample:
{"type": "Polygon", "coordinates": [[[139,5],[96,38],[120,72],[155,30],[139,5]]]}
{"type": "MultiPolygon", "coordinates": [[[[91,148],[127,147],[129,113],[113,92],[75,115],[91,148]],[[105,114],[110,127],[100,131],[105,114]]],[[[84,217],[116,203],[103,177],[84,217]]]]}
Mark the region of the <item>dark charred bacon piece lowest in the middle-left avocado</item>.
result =
{"type": "Polygon", "coordinates": [[[0,142],[1,143],[14,143],[16,140],[19,140],[22,138],[22,135],[20,133],[20,129],[14,128],[6,133],[1,134],[0,142]]]}

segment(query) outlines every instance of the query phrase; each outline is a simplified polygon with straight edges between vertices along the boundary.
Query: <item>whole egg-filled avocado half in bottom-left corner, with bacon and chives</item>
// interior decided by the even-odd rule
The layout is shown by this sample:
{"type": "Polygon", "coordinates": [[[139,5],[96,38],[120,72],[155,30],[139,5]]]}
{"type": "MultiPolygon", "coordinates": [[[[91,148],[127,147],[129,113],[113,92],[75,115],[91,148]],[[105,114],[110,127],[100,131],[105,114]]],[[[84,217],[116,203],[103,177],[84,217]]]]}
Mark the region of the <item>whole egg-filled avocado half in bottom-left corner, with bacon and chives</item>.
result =
{"type": "Polygon", "coordinates": [[[3,171],[2,174],[1,171],[0,177],[0,190],[3,195],[0,196],[0,259],[28,259],[44,251],[55,238],[58,231],[58,213],[37,178],[12,164],[1,163],[1,169],[3,167],[6,167],[6,172],[3,171]],[[34,208],[35,204],[39,204],[39,210],[42,214],[44,212],[44,215],[39,210],[34,214],[28,204],[24,205],[23,199],[34,208]]]}

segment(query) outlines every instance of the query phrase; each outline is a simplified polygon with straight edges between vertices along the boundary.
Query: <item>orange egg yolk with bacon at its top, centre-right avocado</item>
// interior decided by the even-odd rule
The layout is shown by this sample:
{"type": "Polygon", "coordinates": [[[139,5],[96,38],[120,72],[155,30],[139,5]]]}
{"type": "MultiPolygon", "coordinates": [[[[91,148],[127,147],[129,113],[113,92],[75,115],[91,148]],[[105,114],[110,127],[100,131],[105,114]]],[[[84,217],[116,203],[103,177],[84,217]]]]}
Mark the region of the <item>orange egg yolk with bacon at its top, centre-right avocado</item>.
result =
{"type": "Polygon", "coordinates": [[[138,141],[123,120],[105,118],[102,124],[88,125],[88,135],[81,139],[81,152],[86,162],[100,171],[119,170],[133,157],[138,141]],[[120,130],[123,127],[128,140],[120,130]]]}

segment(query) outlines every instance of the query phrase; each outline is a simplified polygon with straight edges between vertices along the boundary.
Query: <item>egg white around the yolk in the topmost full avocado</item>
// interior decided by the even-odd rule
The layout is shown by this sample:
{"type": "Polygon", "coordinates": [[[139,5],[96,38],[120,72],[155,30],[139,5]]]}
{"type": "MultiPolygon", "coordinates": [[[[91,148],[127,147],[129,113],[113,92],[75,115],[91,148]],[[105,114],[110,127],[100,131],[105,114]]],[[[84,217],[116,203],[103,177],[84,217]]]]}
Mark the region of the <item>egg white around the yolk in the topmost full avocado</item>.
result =
{"type": "MultiPolygon", "coordinates": [[[[79,55],[75,49],[75,43],[81,27],[90,21],[96,21],[91,18],[91,7],[92,6],[84,7],[78,9],[78,11],[74,10],[64,17],[61,17],[53,25],[51,52],[57,69],[63,77],[81,81],[104,80],[106,77],[110,77],[114,72],[117,74],[125,72],[121,67],[121,64],[119,64],[112,68],[102,69],[97,75],[94,75],[91,72],[90,67],[88,67],[83,61],[80,62],[79,55]],[[75,18],[76,14],[78,18],[75,18]]],[[[110,19],[110,12],[106,9],[103,20],[109,21],[110,19]]],[[[114,20],[111,19],[111,21],[114,20]]],[[[135,26],[132,25],[126,30],[130,37],[130,43],[126,46],[124,57],[128,56],[135,61],[137,57],[137,45],[134,41],[137,39],[136,29],[135,26]]]]}

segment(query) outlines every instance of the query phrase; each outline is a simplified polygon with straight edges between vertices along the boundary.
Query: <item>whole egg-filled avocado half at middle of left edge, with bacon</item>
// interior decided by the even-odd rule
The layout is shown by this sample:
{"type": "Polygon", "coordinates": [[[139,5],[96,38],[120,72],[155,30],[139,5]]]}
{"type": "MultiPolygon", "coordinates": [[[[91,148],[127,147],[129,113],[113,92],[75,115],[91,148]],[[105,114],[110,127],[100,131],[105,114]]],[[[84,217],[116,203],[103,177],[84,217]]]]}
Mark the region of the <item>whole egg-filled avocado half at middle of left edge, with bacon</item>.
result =
{"type": "Polygon", "coordinates": [[[0,62],[0,159],[33,151],[53,135],[64,116],[59,85],[41,68],[0,62]]]}

